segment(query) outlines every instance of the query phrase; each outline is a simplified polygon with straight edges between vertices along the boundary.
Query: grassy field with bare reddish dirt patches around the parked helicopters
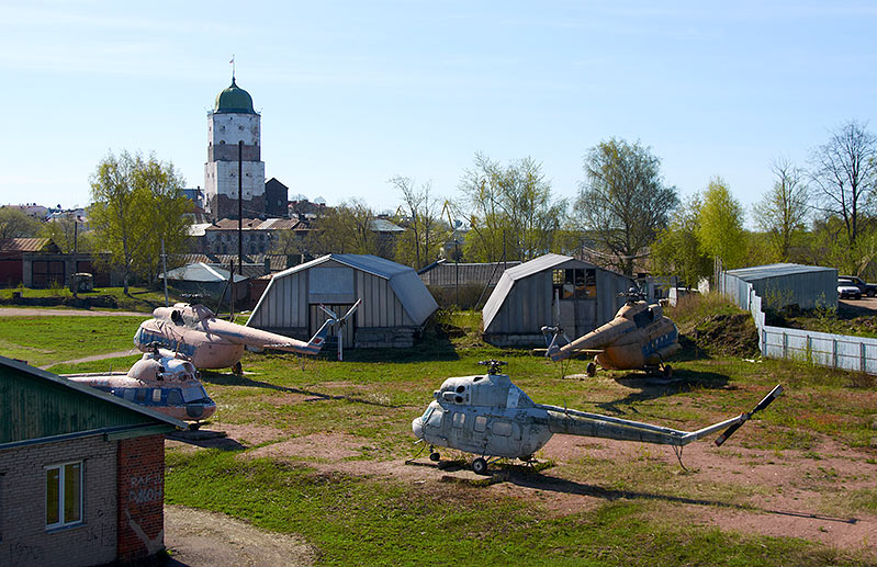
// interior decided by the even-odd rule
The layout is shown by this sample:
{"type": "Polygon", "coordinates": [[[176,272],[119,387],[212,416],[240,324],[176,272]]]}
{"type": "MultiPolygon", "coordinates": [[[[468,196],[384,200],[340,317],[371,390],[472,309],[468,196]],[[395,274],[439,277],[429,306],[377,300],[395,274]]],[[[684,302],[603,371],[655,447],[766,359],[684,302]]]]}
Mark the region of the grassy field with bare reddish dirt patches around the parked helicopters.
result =
{"type": "MultiPolygon", "coordinates": [[[[70,333],[71,319],[56,322],[70,333]]],[[[117,325],[114,333],[128,344],[139,322],[81,319],[117,325]]],[[[169,442],[166,501],[299,534],[328,565],[877,564],[875,540],[835,547],[830,537],[855,538],[877,525],[873,377],[682,356],[672,384],[626,372],[577,379],[569,376],[583,374],[585,361],[564,364],[561,377],[543,358],[481,343],[476,315],[446,322],[453,338],[430,333],[411,350],[348,351],[342,363],[304,364],[291,354],[247,354],[244,376],[203,372],[218,406],[207,427],[227,430],[233,443],[169,442]],[[483,372],[476,363],[490,358],[508,361],[508,374],[536,401],[677,429],[746,411],[777,383],[786,395],[724,446],[686,449],[688,469],[666,447],[566,435],[555,436],[565,445],[552,440],[537,455],[539,472],[495,465],[497,484],[406,466],[419,449],[411,421],[432,390],[448,376],[483,372]]],[[[59,360],[80,351],[63,332],[31,336],[34,349],[59,360]]]]}

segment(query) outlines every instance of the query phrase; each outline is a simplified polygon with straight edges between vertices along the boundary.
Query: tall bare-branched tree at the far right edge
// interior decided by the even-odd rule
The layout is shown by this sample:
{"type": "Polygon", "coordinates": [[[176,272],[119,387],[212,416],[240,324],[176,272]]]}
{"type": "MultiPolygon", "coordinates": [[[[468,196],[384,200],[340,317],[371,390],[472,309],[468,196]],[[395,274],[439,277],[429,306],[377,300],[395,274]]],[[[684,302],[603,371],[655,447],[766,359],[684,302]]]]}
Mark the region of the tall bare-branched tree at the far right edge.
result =
{"type": "Polygon", "coordinates": [[[877,183],[877,137],[866,126],[847,122],[811,158],[811,180],[820,196],[820,209],[841,218],[845,243],[854,256],[861,217],[877,183]]]}

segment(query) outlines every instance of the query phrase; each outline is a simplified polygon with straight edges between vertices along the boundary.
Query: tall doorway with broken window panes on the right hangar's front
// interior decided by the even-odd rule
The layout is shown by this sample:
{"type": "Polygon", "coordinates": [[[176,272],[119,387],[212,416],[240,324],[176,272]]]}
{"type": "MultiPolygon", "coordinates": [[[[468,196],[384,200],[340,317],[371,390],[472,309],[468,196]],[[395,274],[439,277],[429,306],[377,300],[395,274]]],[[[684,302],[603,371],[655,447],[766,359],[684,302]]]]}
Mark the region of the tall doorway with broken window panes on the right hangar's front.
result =
{"type": "Polygon", "coordinates": [[[551,313],[571,339],[597,328],[597,271],[566,268],[551,272],[551,313]]]}

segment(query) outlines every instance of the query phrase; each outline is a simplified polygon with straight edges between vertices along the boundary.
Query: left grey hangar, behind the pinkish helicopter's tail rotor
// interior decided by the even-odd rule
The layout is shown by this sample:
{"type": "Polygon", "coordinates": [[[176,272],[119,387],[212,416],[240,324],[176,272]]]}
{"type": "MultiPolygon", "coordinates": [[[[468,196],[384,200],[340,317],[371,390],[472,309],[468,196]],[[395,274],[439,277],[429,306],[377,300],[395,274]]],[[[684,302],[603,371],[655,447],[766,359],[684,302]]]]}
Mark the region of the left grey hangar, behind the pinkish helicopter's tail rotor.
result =
{"type": "Polygon", "coordinates": [[[412,347],[438,308],[413,269],[370,254],[328,254],[278,272],[247,322],[288,337],[308,339],[326,315],[362,299],[345,348],[412,347]]]}

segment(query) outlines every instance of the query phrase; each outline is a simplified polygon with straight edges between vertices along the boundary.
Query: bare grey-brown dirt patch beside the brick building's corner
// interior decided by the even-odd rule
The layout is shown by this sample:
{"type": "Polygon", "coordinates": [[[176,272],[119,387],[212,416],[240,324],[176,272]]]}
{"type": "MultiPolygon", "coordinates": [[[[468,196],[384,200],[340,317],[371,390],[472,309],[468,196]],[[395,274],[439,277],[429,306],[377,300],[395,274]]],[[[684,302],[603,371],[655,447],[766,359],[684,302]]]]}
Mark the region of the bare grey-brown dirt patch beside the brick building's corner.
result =
{"type": "Polygon", "coordinates": [[[171,566],[314,565],[317,556],[293,535],[182,506],[165,507],[165,546],[171,566]]]}

